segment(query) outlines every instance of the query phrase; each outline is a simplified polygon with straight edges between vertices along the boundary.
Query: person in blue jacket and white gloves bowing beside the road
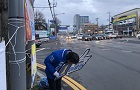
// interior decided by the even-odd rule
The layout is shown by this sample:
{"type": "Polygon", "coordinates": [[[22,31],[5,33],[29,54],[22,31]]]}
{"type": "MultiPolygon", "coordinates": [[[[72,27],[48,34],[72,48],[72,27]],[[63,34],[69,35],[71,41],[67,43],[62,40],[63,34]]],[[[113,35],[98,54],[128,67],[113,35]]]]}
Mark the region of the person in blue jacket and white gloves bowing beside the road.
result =
{"type": "Polygon", "coordinates": [[[79,55],[72,50],[62,49],[52,52],[46,57],[44,64],[46,66],[45,73],[47,75],[50,90],[61,90],[61,78],[58,71],[63,64],[77,64],[79,55]]]}

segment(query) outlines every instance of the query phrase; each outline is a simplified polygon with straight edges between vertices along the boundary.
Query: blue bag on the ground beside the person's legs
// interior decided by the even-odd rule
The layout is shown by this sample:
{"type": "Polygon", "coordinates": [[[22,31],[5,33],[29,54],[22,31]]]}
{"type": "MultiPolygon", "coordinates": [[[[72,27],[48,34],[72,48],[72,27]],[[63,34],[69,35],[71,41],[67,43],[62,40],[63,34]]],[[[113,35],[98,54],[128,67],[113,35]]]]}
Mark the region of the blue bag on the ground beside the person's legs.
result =
{"type": "Polygon", "coordinates": [[[38,90],[48,90],[49,89],[49,83],[47,78],[42,78],[39,83],[38,90]]]}

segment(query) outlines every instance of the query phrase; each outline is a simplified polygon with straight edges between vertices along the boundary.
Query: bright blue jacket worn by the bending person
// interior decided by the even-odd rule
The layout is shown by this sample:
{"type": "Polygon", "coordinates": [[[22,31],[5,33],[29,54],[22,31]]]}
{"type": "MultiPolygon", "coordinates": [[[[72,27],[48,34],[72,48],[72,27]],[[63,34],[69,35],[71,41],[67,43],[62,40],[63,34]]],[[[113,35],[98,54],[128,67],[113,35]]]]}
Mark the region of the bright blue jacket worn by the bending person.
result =
{"type": "Polygon", "coordinates": [[[58,71],[64,63],[66,63],[66,53],[68,51],[72,50],[57,50],[46,57],[44,64],[46,65],[45,73],[48,78],[55,78],[53,74],[55,73],[55,71],[58,71]]]}

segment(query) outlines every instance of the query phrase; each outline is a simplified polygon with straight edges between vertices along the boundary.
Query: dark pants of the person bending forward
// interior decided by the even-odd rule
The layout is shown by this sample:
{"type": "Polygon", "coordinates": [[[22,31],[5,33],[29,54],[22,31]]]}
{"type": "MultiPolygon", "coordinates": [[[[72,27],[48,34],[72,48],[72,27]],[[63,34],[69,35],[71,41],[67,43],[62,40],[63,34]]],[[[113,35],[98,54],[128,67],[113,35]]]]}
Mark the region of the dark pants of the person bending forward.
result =
{"type": "MultiPolygon", "coordinates": [[[[48,77],[47,77],[48,78],[48,77]]],[[[54,81],[54,79],[48,78],[50,90],[61,90],[61,78],[54,81]]]]}

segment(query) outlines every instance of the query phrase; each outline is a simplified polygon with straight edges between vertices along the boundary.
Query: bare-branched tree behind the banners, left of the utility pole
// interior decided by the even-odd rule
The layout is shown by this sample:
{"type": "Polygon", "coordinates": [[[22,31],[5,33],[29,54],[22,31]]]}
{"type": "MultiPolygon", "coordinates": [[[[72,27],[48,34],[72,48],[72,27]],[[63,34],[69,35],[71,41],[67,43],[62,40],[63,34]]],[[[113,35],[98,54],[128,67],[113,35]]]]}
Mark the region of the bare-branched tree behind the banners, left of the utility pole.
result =
{"type": "Polygon", "coordinates": [[[35,11],[35,30],[47,29],[45,16],[40,11],[35,11]]]}

